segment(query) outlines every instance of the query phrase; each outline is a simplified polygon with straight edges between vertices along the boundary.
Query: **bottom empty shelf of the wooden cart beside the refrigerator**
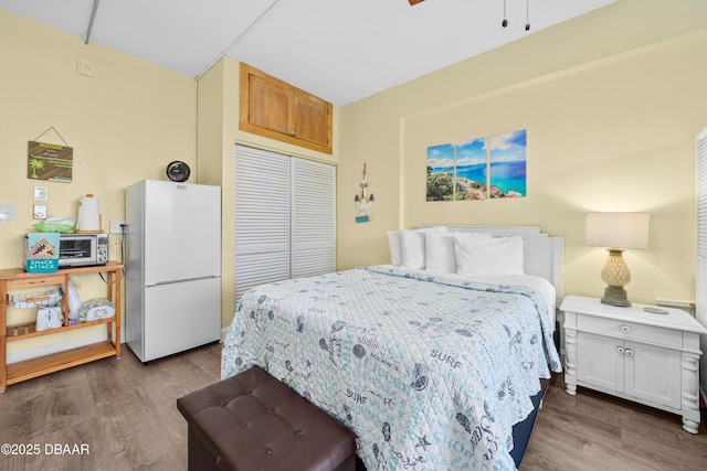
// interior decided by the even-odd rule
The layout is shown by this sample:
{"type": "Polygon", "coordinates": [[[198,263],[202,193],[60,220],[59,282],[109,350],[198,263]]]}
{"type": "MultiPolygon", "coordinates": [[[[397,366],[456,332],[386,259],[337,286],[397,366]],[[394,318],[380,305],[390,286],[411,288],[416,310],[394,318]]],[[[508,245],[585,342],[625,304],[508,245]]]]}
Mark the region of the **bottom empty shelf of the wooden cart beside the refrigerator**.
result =
{"type": "Polygon", "coordinates": [[[116,349],[113,343],[105,341],[24,362],[11,363],[7,370],[7,384],[20,383],[108,356],[116,356],[116,349]]]}

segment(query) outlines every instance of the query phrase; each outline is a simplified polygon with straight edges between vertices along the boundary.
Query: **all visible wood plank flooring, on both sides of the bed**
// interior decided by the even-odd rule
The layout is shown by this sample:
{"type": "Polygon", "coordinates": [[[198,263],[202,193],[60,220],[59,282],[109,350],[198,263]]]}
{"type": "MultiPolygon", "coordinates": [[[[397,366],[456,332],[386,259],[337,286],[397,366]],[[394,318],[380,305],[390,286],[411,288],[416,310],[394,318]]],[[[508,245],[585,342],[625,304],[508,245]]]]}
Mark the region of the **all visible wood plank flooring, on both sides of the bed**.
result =
{"type": "MultiPolygon", "coordinates": [[[[220,356],[212,344],[143,365],[126,347],[120,360],[9,386],[0,394],[0,445],[39,445],[40,454],[0,454],[0,470],[186,470],[187,425],[176,400],[219,381],[220,356]],[[60,454],[56,445],[84,445],[88,454],[60,454]]],[[[703,410],[693,436],[672,414],[584,388],[569,396],[560,375],[520,471],[707,470],[706,420],[703,410]]]]}

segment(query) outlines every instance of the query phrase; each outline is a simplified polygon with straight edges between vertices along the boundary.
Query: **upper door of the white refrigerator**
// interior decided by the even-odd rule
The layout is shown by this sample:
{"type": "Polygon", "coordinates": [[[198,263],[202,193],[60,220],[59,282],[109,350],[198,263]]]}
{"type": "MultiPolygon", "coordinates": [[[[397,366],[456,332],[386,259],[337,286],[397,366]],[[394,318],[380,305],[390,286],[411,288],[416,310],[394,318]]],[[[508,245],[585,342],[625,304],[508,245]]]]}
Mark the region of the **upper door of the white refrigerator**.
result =
{"type": "Polygon", "coordinates": [[[145,285],[220,276],[221,189],[145,184],[145,285]]]}

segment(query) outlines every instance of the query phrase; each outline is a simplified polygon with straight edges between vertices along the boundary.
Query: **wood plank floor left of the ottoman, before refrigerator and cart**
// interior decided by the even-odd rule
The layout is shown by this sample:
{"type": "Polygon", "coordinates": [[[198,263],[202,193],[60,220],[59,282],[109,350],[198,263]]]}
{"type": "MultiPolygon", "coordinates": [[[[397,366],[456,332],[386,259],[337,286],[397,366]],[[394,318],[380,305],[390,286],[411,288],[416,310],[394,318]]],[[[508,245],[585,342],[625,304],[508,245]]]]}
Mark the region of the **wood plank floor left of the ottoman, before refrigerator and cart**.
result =
{"type": "Polygon", "coordinates": [[[186,470],[187,422],[176,402],[219,381],[220,358],[221,345],[212,344],[143,365],[124,347],[119,360],[8,386],[0,394],[0,445],[41,450],[0,454],[0,470],[186,470]],[[89,454],[54,452],[54,445],[81,451],[82,443],[89,454]]]}

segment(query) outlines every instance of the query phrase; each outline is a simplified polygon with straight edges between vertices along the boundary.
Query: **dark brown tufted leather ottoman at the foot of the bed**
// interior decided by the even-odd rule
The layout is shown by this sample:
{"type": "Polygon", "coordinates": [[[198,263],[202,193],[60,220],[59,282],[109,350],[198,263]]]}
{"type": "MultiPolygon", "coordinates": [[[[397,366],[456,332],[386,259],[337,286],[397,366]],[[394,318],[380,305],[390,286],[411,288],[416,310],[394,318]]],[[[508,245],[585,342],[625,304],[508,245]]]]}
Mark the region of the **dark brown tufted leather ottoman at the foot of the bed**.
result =
{"type": "Polygon", "coordinates": [[[354,432],[253,366],[177,399],[189,470],[355,470],[354,432]]]}

